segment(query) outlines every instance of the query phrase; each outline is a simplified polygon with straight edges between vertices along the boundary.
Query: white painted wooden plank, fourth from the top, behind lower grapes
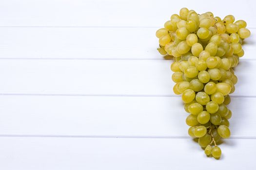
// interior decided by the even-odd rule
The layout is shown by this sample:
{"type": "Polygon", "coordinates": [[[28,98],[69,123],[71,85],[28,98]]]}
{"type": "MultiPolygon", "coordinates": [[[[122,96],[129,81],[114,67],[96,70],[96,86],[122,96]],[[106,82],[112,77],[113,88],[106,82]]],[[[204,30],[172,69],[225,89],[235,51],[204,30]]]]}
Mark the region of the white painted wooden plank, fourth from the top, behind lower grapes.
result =
{"type": "MultiPolygon", "coordinates": [[[[0,135],[188,137],[179,97],[0,96],[0,135]]],[[[232,137],[256,137],[256,98],[232,98],[232,137]]]]}

